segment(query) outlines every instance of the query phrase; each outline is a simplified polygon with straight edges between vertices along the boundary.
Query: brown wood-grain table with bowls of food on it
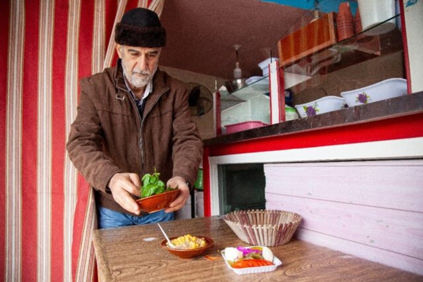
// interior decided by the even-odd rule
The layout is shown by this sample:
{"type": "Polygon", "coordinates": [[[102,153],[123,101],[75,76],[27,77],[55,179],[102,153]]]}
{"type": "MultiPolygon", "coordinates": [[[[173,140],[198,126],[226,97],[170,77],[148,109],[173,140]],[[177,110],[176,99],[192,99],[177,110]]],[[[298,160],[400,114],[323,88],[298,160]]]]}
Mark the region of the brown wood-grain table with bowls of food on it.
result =
{"type": "Polygon", "coordinates": [[[99,281],[423,281],[422,276],[293,239],[271,247],[282,261],[274,272],[236,275],[221,259],[225,247],[248,246],[221,217],[161,223],[169,237],[203,235],[214,240],[216,257],[183,260],[162,249],[157,224],[95,230],[93,243],[99,281]],[[150,241],[152,240],[152,241],[150,241]]]}

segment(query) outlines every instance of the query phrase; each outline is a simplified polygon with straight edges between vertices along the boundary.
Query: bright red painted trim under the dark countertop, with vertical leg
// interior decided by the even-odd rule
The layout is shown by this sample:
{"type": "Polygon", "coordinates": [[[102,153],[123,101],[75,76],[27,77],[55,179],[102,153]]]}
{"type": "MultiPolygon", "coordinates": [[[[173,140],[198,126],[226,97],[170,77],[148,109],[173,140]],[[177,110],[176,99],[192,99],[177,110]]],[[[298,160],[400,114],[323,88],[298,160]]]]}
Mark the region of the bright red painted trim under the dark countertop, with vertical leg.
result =
{"type": "Polygon", "coordinates": [[[301,133],[281,134],[204,148],[203,178],[205,216],[211,215],[209,157],[230,154],[310,148],[338,144],[394,140],[423,136],[423,113],[301,133]]]}

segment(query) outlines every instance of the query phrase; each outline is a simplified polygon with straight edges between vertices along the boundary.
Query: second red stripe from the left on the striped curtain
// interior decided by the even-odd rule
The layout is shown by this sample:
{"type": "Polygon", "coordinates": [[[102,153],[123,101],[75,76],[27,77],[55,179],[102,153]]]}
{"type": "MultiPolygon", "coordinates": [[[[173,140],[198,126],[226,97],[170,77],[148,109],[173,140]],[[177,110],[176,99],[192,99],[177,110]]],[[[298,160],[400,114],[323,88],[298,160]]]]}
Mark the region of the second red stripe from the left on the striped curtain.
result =
{"type": "MultiPolygon", "coordinates": [[[[21,189],[22,213],[21,281],[32,281],[37,277],[37,103],[38,103],[38,26],[39,1],[25,2],[23,82],[22,82],[22,157],[21,189]]],[[[18,93],[16,93],[18,94],[18,93]]],[[[19,93],[20,94],[20,93],[19,93]]],[[[17,238],[16,238],[17,239],[17,238]]],[[[47,263],[47,262],[45,262],[47,263]]],[[[49,280],[49,278],[46,278],[49,280]]]]}

